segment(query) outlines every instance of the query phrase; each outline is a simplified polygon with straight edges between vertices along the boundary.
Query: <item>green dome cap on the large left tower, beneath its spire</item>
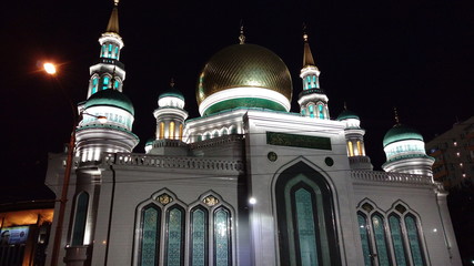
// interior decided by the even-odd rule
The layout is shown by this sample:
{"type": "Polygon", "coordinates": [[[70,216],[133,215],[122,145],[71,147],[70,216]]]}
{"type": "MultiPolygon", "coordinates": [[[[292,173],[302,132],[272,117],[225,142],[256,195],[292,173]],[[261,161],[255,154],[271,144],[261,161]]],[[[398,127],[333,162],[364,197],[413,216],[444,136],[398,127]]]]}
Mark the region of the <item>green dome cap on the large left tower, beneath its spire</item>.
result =
{"type": "Polygon", "coordinates": [[[92,94],[92,96],[90,96],[85,102],[84,108],[88,109],[92,106],[114,106],[125,110],[132,115],[135,114],[130,99],[125,96],[125,94],[112,89],[103,90],[92,94]]]}

